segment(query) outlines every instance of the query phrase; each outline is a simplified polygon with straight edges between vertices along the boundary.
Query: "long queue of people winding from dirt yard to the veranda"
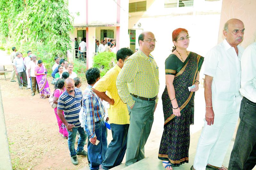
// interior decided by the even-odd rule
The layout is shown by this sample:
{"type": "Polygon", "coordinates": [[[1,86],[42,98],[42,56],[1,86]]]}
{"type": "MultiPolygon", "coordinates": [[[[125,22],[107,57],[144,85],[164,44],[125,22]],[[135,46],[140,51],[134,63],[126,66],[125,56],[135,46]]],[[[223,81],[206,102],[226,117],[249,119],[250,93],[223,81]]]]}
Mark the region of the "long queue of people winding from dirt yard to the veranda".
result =
{"type": "MultiPolygon", "coordinates": [[[[244,30],[241,20],[229,19],[223,29],[225,40],[205,56],[206,113],[191,170],[205,170],[206,167],[242,170],[256,165],[256,43],[246,50],[239,46],[244,30]],[[222,166],[222,162],[239,115],[241,122],[227,168],[222,166]]],[[[194,96],[199,89],[199,72],[204,62],[203,56],[187,50],[189,38],[188,30],[175,29],[172,32],[174,47],[165,60],[166,86],[162,94],[164,131],[158,159],[167,170],[189,161],[189,128],[194,123],[194,96]]],[[[102,44],[97,40],[95,43],[98,52],[111,49],[112,42],[107,46],[106,40],[102,44]]],[[[58,104],[54,112],[60,134],[68,138],[74,165],[78,165],[76,155],[88,156],[90,169],[104,170],[120,165],[125,152],[126,166],[145,158],[144,146],[159,98],[159,68],[151,55],[156,45],[154,34],[142,32],[138,43],[140,48],[135,53],[128,48],[119,49],[116,53],[117,64],[102,78],[99,69],[88,69],[88,86],[84,93],[77,88],[81,87],[82,81],[76,78],[73,64],[67,63],[67,71],[64,72],[67,61],[57,61],[56,58],[56,65],[59,65],[52,68],[52,77],[59,80],[54,91],[54,103],[58,104]],[[109,103],[109,108],[103,106],[102,100],[109,103]],[[104,120],[106,109],[113,137],[108,146],[108,122],[104,120]],[[77,131],[80,137],[75,149],[77,131]],[[87,152],[84,151],[86,140],[87,152]]],[[[31,57],[29,70],[37,64],[34,69],[39,92],[41,96],[49,96],[47,70],[42,60],[36,61],[33,58],[35,55],[31,57]]],[[[22,61],[20,53],[16,53],[14,70],[18,77],[24,79],[21,84],[18,78],[20,87],[27,86],[26,68],[22,61]]],[[[34,88],[32,79],[31,82],[34,88]]]]}

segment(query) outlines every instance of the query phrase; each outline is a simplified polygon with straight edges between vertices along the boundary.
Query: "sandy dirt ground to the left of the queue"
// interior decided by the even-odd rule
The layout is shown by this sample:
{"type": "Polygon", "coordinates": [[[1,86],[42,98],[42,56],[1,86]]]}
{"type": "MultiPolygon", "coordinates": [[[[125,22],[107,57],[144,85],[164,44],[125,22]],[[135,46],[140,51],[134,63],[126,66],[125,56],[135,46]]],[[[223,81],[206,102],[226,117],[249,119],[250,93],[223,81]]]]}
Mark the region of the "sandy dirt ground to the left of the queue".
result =
{"type": "MultiPolygon", "coordinates": [[[[48,81],[50,84],[49,78],[48,81]]],[[[48,99],[40,99],[38,93],[31,96],[30,89],[20,90],[18,83],[10,82],[10,79],[0,80],[0,85],[13,169],[79,169],[88,166],[84,156],[77,156],[78,166],[71,163],[67,139],[59,134],[48,99]]],[[[51,85],[51,91],[53,89],[51,85]]]]}

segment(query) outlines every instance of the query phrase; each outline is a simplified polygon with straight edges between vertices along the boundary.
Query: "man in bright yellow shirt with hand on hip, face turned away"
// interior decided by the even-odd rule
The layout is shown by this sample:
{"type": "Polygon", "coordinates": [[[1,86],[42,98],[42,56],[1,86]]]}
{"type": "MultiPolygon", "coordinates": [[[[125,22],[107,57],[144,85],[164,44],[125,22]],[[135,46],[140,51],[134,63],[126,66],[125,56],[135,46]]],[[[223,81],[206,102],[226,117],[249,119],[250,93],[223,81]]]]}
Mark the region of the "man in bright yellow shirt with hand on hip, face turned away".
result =
{"type": "Polygon", "coordinates": [[[93,92],[110,104],[108,117],[113,140],[108,145],[105,160],[102,162],[101,167],[105,170],[120,165],[126,151],[129,114],[126,104],[123,103],[117,93],[116,78],[124,66],[124,61],[132,54],[133,52],[129,48],[118,50],[116,65],[92,87],[93,92]]]}

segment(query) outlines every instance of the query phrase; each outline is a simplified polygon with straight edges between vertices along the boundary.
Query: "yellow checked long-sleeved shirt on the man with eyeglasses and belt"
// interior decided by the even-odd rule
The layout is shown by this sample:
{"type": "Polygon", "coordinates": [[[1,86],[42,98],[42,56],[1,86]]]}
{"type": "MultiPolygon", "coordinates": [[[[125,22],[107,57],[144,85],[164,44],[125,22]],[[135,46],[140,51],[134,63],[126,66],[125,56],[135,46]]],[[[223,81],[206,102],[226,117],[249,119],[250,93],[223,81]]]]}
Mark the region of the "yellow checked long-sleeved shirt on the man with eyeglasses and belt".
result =
{"type": "Polygon", "coordinates": [[[140,49],[131,55],[117,76],[116,87],[120,98],[130,107],[135,103],[130,93],[145,98],[156,97],[159,91],[159,77],[153,56],[148,57],[140,49]]]}

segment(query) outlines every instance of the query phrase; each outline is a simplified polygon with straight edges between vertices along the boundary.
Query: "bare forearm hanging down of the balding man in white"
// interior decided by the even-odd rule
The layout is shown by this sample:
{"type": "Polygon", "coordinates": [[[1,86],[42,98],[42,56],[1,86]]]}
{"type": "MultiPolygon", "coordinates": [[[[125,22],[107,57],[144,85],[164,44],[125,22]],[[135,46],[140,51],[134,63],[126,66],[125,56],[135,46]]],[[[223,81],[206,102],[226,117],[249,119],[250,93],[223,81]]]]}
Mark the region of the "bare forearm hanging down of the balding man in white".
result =
{"type": "Polygon", "coordinates": [[[205,75],[204,78],[204,99],[205,99],[205,120],[207,125],[212,125],[214,122],[214,112],[212,109],[212,79],[213,77],[205,75]]]}

